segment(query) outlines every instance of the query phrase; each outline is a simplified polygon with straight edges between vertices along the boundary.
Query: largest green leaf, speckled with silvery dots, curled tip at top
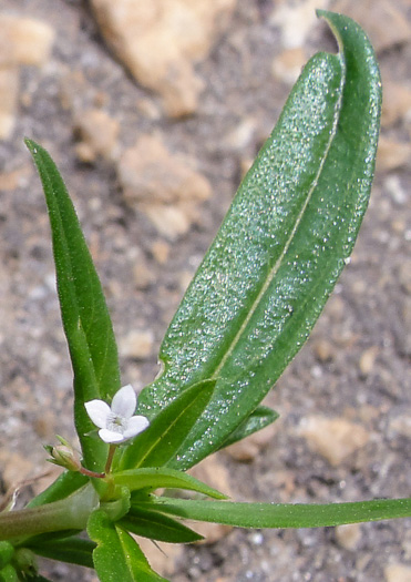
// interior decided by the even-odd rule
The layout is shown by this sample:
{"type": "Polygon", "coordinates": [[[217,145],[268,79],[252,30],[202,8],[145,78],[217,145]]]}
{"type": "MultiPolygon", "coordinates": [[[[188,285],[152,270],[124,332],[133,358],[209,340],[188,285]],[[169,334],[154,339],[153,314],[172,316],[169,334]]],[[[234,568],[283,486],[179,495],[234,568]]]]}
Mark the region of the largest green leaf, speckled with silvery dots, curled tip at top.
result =
{"type": "Polygon", "coordinates": [[[143,390],[155,415],[188,386],[217,379],[173,467],[218,449],[307,339],[348,259],[367,208],[381,83],[349,18],[321,12],[338,54],[308,62],[166,333],[164,371],[143,390]]]}

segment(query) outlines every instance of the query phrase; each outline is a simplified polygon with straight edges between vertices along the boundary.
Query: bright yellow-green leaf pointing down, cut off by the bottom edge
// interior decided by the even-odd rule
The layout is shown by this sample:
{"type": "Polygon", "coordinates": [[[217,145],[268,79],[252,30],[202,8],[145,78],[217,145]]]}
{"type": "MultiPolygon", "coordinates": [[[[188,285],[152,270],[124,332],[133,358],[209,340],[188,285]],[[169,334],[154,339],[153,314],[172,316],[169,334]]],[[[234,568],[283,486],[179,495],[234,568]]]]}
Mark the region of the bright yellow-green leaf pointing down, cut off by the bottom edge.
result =
{"type": "Polygon", "coordinates": [[[97,544],[93,560],[101,582],[167,582],[150,568],[135,540],[104,511],[91,514],[88,532],[97,544]]]}

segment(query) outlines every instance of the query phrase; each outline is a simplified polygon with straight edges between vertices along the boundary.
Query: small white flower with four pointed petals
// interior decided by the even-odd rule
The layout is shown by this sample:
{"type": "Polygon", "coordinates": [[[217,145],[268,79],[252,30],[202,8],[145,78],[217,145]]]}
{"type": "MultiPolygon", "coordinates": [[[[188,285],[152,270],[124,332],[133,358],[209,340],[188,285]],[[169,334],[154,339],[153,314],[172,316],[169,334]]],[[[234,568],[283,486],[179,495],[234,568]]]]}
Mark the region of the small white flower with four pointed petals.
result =
{"type": "Polygon", "coordinates": [[[143,432],[150,425],[146,417],[133,416],[137,397],[131,384],[114,395],[111,408],[104,400],[90,400],[84,406],[91,420],[100,428],[99,436],[104,442],[124,442],[143,432]]]}

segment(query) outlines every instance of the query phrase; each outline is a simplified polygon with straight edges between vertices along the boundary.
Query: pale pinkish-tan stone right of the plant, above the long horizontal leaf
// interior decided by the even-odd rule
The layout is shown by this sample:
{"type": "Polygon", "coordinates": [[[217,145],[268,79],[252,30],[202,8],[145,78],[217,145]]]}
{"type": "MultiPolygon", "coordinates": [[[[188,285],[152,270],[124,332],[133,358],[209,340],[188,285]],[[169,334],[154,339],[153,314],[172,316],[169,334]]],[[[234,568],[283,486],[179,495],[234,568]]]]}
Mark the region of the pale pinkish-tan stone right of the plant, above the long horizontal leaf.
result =
{"type": "Polygon", "coordinates": [[[370,439],[369,432],[360,425],[343,418],[320,416],[305,418],[298,432],[315,452],[333,467],[338,467],[370,439]]]}

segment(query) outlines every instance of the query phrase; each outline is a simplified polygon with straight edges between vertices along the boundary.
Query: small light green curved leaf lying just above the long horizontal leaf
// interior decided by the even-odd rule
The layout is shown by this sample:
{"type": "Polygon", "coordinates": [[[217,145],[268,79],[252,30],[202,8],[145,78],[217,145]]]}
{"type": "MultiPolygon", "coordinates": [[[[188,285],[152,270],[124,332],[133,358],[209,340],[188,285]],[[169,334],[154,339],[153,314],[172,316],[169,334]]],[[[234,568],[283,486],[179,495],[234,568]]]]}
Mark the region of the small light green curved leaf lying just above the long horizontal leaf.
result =
{"type": "Polygon", "coordinates": [[[154,491],[158,488],[185,489],[187,491],[203,493],[214,499],[226,499],[226,496],[216,489],[202,483],[202,481],[198,481],[189,474],[182,473],[174,469],[130,469],[129,471],[113,473],[113,481],[117,486],[129,488],[130,491],[143,489],[154,491]]]}

